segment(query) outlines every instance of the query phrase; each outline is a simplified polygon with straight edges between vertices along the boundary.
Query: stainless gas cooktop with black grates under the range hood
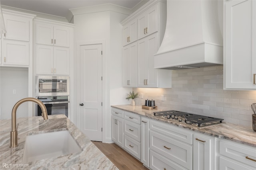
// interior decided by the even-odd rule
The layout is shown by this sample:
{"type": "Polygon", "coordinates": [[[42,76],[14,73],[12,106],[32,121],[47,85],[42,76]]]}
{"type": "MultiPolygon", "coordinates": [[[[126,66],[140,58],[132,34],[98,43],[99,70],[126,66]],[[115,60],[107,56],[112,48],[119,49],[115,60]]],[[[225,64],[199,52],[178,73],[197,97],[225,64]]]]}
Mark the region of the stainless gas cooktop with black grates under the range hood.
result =
{"type": "Polygon", "coordinates": [[[222,123],[222,121],[224,120],[215,117],[197,115],[176,110],[154,112],[154,116],[160,116],[164,119],[169,119],[172,121],[184,122],[186,124],[195,125],[197,127],[215,125],[218,123],[222,123]]]}

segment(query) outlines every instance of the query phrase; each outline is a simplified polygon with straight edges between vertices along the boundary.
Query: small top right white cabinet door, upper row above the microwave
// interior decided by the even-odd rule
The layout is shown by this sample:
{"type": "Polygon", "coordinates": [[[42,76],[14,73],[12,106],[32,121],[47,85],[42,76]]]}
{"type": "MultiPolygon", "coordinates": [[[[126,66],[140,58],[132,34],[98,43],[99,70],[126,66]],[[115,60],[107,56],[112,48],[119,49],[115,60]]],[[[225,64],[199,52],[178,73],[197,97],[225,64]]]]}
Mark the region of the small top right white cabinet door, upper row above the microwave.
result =
{"type": "Polygon", "coordinates": [[[69,34],[68,27],[54,26],[54,46],[69,47],[69,34]]]}

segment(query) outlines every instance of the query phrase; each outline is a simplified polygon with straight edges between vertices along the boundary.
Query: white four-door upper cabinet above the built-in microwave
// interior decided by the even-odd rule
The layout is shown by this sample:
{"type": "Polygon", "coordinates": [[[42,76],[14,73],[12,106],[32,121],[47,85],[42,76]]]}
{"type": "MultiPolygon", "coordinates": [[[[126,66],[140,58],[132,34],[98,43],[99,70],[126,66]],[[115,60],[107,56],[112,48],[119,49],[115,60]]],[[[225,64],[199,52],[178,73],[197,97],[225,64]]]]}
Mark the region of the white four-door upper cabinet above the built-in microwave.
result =
{"type": "Polygon", "coordinates": [[[74,53],[74,25],[36,19],[34,29],[36,74],[69,75],[74,53]]]}

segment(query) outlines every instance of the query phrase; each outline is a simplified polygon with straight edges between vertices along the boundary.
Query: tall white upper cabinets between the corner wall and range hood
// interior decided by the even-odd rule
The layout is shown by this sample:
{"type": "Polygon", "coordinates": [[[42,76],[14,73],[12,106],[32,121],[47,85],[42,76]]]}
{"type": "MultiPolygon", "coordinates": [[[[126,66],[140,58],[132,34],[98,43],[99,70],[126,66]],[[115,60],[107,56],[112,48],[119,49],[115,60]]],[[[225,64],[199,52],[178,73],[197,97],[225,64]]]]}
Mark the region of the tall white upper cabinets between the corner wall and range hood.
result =
{"type": "Polygon", "coordinates": [[[162,42],[165,24],[166,2],[158,0],[149,1],[122,21],[123,35],[126,35],[123,39],[127,41],[123,42],[124,87],[172,87],[171,70],[154,68],[154,54],[162,42]],[[137,30],[138,40],[128,36],[132,35],[128,34],[131,30],[137,30]]]}

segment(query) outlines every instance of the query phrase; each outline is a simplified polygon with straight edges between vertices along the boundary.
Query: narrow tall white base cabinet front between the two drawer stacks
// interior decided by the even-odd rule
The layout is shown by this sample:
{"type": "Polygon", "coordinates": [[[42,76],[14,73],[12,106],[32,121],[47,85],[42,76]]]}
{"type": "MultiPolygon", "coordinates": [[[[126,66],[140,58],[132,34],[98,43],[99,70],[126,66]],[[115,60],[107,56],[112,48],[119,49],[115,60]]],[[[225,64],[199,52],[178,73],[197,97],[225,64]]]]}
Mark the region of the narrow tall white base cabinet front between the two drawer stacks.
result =
{"type": "Polygon", "coordinates": [[[149,167],[149,122],[150,119],[141,117],[141,162],[149,167]]]}

